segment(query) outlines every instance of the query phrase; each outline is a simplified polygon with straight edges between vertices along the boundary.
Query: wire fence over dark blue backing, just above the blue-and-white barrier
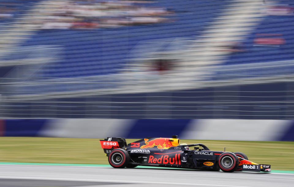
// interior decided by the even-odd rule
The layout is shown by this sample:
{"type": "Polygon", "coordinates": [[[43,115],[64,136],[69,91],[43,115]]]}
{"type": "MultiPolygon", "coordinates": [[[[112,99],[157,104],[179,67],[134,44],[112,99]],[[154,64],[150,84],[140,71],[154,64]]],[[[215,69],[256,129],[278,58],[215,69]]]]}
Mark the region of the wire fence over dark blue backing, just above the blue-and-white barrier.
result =
{"type": "MultiPolygon", "coordinates": [[[[190,81],[190,86],[181,86],[186,83],[56,82],[51,84],[117,86],[37,94],[4,92],[16,86],[5,83],[1,118],[294,119],[294,83],[289,77],[274,81],[190,81]]],[[[17,87],[24,85],[18,83],[17,87]]]]}

